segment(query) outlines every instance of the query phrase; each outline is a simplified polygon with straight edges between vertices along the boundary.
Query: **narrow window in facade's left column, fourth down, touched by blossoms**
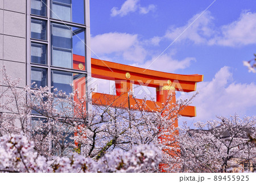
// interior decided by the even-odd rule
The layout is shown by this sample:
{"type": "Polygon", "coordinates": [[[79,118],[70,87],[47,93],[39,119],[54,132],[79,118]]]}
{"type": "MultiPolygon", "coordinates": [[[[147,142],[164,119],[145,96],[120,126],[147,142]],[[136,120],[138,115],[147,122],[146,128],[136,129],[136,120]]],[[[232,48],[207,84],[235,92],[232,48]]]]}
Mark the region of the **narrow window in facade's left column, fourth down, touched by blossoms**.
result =
{"type": "Polygon", "coordinates": [[[47,86],[47,70],[43,68],[32,67],[31,68],[31,84],[32,84],[31,87],[47,86]]]}

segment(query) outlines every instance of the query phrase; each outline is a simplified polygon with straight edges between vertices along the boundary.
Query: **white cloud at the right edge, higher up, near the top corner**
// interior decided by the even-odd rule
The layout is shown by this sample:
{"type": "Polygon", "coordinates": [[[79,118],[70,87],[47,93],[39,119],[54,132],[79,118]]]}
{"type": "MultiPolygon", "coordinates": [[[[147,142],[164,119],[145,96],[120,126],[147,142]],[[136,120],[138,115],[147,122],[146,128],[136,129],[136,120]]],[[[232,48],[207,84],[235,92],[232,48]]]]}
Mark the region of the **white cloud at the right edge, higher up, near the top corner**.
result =
{"type": "Polygon", "coordinates": [[[221,27],[221,36],[216,36],[209,44],[240,46],[256,44],[256,13],[243,12],[240,18],[221,27]]]}

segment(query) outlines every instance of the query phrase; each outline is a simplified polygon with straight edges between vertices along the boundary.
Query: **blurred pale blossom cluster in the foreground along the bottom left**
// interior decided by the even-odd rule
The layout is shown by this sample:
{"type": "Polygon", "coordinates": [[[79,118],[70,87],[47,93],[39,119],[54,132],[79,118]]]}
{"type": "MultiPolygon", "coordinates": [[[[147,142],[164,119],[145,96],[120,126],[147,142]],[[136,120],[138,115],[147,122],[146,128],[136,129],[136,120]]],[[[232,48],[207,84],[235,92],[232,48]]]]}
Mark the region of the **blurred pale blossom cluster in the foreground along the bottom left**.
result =
{"type": "Polygon", "coordinates": [[[161,151],[152,144],[130,151],[114,150],[96,161],[77,153],[47,159],[34,151],[34,142],[21,134],[0,137],[0,172],[140,172],[160,162],[161,151]]]}

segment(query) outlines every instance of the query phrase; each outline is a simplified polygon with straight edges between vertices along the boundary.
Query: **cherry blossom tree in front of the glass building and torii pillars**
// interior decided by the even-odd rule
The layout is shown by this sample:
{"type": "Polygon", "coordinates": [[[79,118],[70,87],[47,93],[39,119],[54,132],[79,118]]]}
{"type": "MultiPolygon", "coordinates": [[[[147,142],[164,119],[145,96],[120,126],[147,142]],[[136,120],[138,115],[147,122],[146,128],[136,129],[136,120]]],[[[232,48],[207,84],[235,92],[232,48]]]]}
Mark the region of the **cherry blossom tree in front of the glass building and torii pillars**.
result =
{"type": "MultiPolygon", "coordinates": [[[[65,158],[75,151],[99,162],[105,161],[112,152],[121,154],[121,150],[130,152],[137,146],[146,145],[146,148],[154,144],[166,152],[161,162],[170,167],[174,156],[170,158],[168,152],[179,151],[174,122],[191,99],[169,104],[172,99],[169,96],[167,105],[153,113],[144,110],[145,100],[136,101],[139,110],[130,110],[123,103],[112,105],[115,99],[111,98],[104,99],[110,101],[109,105],[96,103],[80,96],[78,90],[65,93],[50,87],[19,88],[18,83],[19,79],[12,80],[3,69],[0,136],[22,134],[33,144],[31,147],[36,153],[31,157],[35,160],[44,157],[50,161],[56,155],[65,158]],[[92,111],[86,110],[88,102],[94,107],[92,111]]],[[[130,96],[130,100],[135,100],[130,96]]],[[[158,163],[141,171],[158,172],[158,163]]]]}

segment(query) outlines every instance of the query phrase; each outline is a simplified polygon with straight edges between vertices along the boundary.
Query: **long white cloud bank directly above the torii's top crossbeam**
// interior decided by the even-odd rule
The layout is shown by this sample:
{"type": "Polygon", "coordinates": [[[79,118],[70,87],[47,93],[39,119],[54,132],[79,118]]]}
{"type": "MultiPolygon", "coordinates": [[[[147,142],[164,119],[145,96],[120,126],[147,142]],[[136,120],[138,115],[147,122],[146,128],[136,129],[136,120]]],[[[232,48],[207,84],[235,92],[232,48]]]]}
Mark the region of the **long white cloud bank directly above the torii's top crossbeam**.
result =
{"type": "MultiPolygon", "coordinates": [[[[129,33],[110,32],[91,37],[91,49],[100,59],[109,61],[130,61],[131,64],[152,70],[174,72],[191,65],[195,58],[177,60],[172,58],[175,52],[166,53],[158,57],[158,53],[151,46],[158,46],[161,37],[143,40],[138,35],[129,33]],[[150,48],[148,48],[148,46],[150,48]],[[146,58],[148,61],[145,62],[146,58]],[[151,64],[152,63],[152,64],[151,64]]],[[[92,56],[95,57],[92,53],[92,56]]]]}

